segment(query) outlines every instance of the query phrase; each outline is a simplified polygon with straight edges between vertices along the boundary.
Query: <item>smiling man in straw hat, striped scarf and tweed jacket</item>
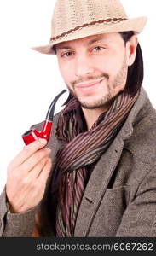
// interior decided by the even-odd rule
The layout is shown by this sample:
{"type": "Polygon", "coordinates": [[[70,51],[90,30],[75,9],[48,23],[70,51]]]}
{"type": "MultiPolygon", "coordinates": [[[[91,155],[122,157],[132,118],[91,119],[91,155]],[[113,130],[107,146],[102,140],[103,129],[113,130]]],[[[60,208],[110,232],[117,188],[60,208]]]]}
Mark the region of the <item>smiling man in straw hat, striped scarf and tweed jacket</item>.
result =
{"type": "Polygon", "coordinates": [[[70,95],[49,144],[9,164],[1,236],[156,236],[156,113],[136,36],[146,21],[118,0],[57,0],[50,44],[36,49],[57,55],[70,95]]]}

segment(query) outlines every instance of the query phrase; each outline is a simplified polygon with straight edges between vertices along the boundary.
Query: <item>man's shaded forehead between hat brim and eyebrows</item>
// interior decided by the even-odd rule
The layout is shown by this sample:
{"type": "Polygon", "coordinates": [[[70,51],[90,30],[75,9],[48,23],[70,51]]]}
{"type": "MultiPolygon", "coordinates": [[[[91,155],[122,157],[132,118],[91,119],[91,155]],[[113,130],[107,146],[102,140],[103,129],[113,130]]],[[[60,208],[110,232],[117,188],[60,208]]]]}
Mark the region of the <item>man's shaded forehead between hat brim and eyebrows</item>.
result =
{"type": "Polygon", "coordinates": [[[72,46],[77,44],[83,44],[88,46],[98,41],[104,41],[104,42],[111,42],[114,40],[117,41],[118,38],[121,38],[118,32],[104,33],[104,34],[93,35],[85,38],[78,38],[72,41],[62,42],[60,44],[56,44],[55,47],[57,49],[69,49],[72,46]]]}

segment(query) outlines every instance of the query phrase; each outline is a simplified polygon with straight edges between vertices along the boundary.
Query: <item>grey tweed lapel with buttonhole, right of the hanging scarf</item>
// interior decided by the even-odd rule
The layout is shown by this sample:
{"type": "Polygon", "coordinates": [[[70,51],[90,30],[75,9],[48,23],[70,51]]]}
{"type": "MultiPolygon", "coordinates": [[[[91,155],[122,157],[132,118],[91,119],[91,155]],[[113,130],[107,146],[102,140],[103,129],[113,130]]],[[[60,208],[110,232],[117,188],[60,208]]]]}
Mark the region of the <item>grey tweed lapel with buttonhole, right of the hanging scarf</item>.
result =
{"type": "Polygon", "coordinates": [[[116,137],[107,152],[101,156],[101,159],[96,164],[78,211],[74,236],[88,235],[95,212],[101,203],[107,184],[122,154],[123,146],[123,140],[116,137]]]}

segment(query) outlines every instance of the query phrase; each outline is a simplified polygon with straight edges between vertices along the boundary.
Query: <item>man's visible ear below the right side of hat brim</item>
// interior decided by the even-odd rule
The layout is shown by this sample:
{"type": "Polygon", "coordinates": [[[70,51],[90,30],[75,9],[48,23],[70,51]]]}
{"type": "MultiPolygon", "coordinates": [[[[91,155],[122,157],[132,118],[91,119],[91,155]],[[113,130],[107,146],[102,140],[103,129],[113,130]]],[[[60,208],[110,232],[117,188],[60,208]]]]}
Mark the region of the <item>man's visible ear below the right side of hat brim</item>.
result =
{"type": "Polygon", "coordinates": [[[131,66],[136,59],[137,44],[138,38],[136,37],[136,35],[133,35],[126,43],[126,61],[128,66],[131,66]]]}

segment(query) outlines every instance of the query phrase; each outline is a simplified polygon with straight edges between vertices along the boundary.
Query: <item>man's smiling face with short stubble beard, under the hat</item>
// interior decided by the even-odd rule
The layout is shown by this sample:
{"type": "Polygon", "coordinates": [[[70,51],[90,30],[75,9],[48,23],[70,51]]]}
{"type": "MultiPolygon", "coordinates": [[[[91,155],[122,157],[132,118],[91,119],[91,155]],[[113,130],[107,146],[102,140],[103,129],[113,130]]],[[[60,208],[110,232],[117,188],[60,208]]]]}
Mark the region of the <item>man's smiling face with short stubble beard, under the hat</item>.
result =
{"type": "Polygon", "coordinates": [[[105,108],[124,90],[130,51],[118,32],[56,45],[62,78],[83,108],[105,108]]]}

